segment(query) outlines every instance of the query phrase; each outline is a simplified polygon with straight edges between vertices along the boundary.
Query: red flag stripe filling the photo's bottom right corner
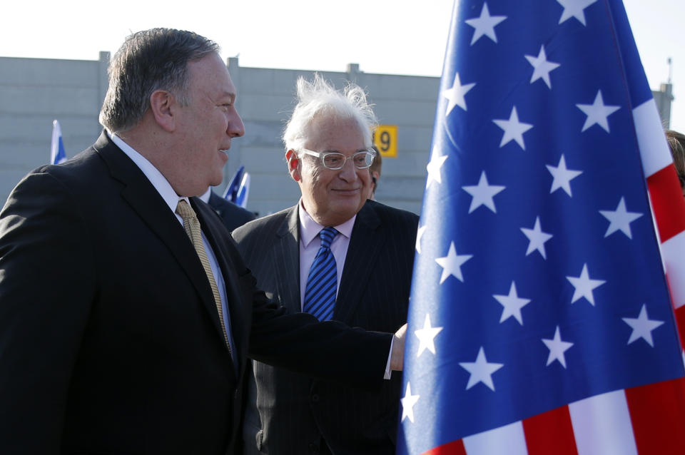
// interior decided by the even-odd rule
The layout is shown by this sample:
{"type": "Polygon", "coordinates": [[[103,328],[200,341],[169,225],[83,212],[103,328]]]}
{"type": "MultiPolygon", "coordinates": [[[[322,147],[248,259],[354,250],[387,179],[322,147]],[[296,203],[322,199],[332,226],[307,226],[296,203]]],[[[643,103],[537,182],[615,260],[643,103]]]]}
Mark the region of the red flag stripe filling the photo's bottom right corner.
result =
{"type": "Polygon", "coordinates": [[[639,455],[682,454],[685,447],[685,378],[626,389],[639,455]]]}

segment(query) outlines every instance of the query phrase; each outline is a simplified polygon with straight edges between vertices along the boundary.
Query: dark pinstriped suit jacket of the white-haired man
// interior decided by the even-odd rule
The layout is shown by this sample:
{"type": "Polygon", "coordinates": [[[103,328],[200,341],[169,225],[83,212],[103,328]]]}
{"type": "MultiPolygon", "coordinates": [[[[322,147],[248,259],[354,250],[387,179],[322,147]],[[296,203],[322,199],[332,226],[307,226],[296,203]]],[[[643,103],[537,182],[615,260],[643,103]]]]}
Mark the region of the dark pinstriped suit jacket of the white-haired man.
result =
{"type": "MultiPolygon", "coordinates": [[[[333,319],[395,332],[407,319],[418,218],[367,201],[357,214],[333,319]]],[[[297,206],[233,231],[260,289],[300,312],[297,206]]],[[[361,354],[361,352],[360,352],[361,354]]],[[[401,375],[367,392],[254,362],[245,416],[245,454],[395,454],[401,375]],[[260,452],[263,451],[263,452],[260,452]]]]}

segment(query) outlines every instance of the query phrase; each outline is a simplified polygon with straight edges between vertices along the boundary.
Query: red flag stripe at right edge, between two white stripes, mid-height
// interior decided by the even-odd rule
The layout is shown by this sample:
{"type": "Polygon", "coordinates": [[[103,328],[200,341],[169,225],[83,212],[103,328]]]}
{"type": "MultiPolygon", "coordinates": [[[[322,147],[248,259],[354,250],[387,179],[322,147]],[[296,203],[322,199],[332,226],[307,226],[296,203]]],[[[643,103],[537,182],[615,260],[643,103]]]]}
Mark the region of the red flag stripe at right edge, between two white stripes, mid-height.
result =
{"type": "Polygon", "coordinates": [[[685,198],[673,163],[647,177],[661,242],[685,230],[685,198]]]}

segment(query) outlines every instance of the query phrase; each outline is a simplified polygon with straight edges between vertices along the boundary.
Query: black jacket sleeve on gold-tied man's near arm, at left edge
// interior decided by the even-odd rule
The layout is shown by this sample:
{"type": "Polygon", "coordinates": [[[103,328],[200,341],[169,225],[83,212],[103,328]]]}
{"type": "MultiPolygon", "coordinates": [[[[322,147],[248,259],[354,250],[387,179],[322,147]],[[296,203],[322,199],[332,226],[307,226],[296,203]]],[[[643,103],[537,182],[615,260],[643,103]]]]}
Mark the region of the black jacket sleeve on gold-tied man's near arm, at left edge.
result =
{"type": "Polygon", "coordinates": [[[95,292],[78,204],[44,172],[0,213],[0,453],[58,454],[73,365],[95,292]]]}

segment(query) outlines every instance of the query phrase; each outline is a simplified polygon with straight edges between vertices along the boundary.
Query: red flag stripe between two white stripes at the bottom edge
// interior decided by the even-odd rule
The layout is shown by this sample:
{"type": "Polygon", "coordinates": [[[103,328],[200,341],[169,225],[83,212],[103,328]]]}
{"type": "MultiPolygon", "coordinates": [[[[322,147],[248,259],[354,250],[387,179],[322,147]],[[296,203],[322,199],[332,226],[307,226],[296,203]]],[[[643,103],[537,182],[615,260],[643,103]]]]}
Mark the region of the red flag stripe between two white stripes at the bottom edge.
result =
{"type": "Polygon", "coordinates": [[[528,455],[578,455],[567,406],[525,419],[523,431],[528,455]]]}

